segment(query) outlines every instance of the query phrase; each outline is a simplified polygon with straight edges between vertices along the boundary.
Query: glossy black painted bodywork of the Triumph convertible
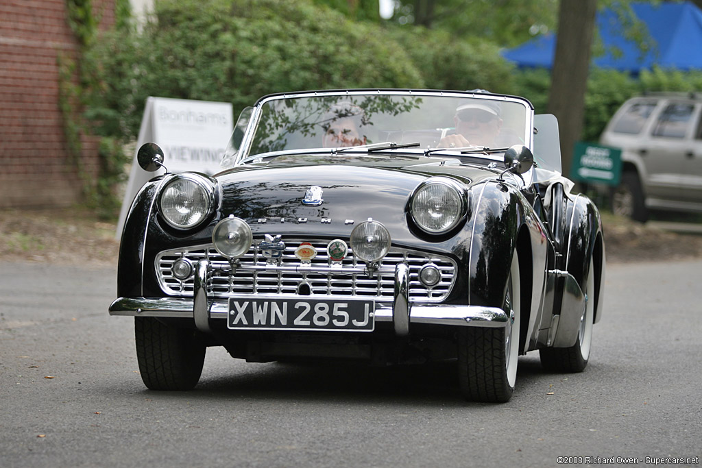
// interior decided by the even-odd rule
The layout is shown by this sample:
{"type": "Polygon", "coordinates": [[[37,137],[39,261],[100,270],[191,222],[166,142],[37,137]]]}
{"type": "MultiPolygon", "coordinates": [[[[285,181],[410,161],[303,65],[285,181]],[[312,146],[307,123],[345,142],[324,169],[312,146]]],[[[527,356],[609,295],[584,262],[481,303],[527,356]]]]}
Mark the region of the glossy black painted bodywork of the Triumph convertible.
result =
{"type": "MultiPolygon", "coordinates": [[[[520,265],[523,272],[529,272],[529,281],[540,283],[546,271],[565,269],[567,262],[569,272],[582,284],[595,239],[602,236],[597,208],[586,197],[567,199],[562,191],[556,191],[548,211],[540,216],[532,206],[538,199],[534,188],[520,191],[510,182],[498,181],[498,175],[499,171],[485,166],[457,166],[439,158],[386,154],[282,156],[265,165],[240,166],[216,175],[221,201],[211,220],[189,232],[168,227],[152,206],[158,196],[157,179],[138,194],[126,222],[118,294],[163,296],[154,275],[156,255],[170,248],[210,243],[216,222],[228,215],[249,222],[254,239],[261,239],[264,234],[310,240],[348,239],[353,227],[373,218],[388,228],[396,246],[451,255],[457,260],[457,287],[448,300],[457,304],[502,307],[518,236],[519,241],[527,243],[520,249],[529,251],[529,255],[524,255],[525,262],[520,252],[520,263],[531,262],[530,242],[542,245],[540,255],[545,252],[534,259],[535,263],[520,265]],[[455,178],[470,194],[470,215],[449,236],[423,234],[411,225],[408,216],[411,192],[434,175],[455,178]],[[324,190],[321,206],[302,203],[305,191],[312,185],[324,190]],[[323,224],[322,218],[331,222],[323,224]],[[542,223],[541,219],[550,221],[542,223]]],[[[534,342],[532,338],[548,326],[552,313],[560,312],[542,311],[538,309],[540,304],[541,297],[531,297],[532,325],[538,321],[531,337],[522,336],[522,345],[534,342]]]]}

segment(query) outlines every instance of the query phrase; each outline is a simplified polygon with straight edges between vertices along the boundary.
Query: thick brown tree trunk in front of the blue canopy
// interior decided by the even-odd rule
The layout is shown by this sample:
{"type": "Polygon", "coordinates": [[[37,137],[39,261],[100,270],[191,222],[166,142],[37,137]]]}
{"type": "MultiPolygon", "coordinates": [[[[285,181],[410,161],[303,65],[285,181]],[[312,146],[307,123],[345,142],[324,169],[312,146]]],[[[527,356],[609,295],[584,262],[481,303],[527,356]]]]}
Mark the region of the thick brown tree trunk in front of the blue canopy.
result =
{"type": "Polygon", "coordinates": [[[570,174],[573,146],[583,131],[596,11],[597,0],[561,0],[559,8],[547,112],[558,119],[562,169],[566,177],[570,174]]]}

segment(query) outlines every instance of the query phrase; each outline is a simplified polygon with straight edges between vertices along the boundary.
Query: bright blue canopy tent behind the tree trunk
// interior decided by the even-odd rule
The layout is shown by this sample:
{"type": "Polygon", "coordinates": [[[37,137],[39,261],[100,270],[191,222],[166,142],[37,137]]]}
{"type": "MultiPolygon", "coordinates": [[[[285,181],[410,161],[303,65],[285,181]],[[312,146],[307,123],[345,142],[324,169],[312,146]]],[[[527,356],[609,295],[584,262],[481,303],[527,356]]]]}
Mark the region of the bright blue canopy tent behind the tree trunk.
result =
{"type": "MultiPolygon", "coordinates": [[[[642,53],[635,41],[624,38],[616,14],[611,10],[600,11],[597,13],[597,31],[606,53],[593,58],[595,65],[632,74],[654,65],[681,70],[702,69],[702,11],[699,8],[689,1],[657,6],[633,3],[631,8],[646,25],[655,46],[642,53]]],[[[555,35],[545,34],[508,49],[502,55],[519,67],[550,68],[555,47],[555,35]]]]}

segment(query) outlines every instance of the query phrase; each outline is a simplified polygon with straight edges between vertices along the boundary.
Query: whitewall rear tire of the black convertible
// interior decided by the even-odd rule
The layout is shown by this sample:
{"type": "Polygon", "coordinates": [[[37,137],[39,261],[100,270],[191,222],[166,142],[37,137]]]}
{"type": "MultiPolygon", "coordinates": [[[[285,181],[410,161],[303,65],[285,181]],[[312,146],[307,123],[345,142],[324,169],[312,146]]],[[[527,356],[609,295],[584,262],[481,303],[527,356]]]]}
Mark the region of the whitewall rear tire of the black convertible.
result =
{"type": "Polygon", "coordinates": [[[542,348],[539,350],[541,366],[551,372],[583,372],[588,366],[592,347],[592,324],[595,321],[595,263],[590,259],[590,272],[585,284],[588,302],[581,319],[580,333],[575,345],[569,348],[542,348]]]}

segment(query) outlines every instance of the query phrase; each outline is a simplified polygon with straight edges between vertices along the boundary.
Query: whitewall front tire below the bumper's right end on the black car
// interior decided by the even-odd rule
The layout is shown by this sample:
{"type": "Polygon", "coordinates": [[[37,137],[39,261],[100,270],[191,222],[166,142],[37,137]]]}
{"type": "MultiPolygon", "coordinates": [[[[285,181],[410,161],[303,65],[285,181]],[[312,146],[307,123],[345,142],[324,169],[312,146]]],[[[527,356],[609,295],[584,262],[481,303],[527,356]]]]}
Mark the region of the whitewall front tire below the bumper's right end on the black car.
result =
{"type": "Polygon", "coordinates": [[[519,259],[512,257],[503,308],[512,317],[505,328],[463,327],[458,331],[458,382],[469,401],[512,398],[519,354],[519,259]]]}

